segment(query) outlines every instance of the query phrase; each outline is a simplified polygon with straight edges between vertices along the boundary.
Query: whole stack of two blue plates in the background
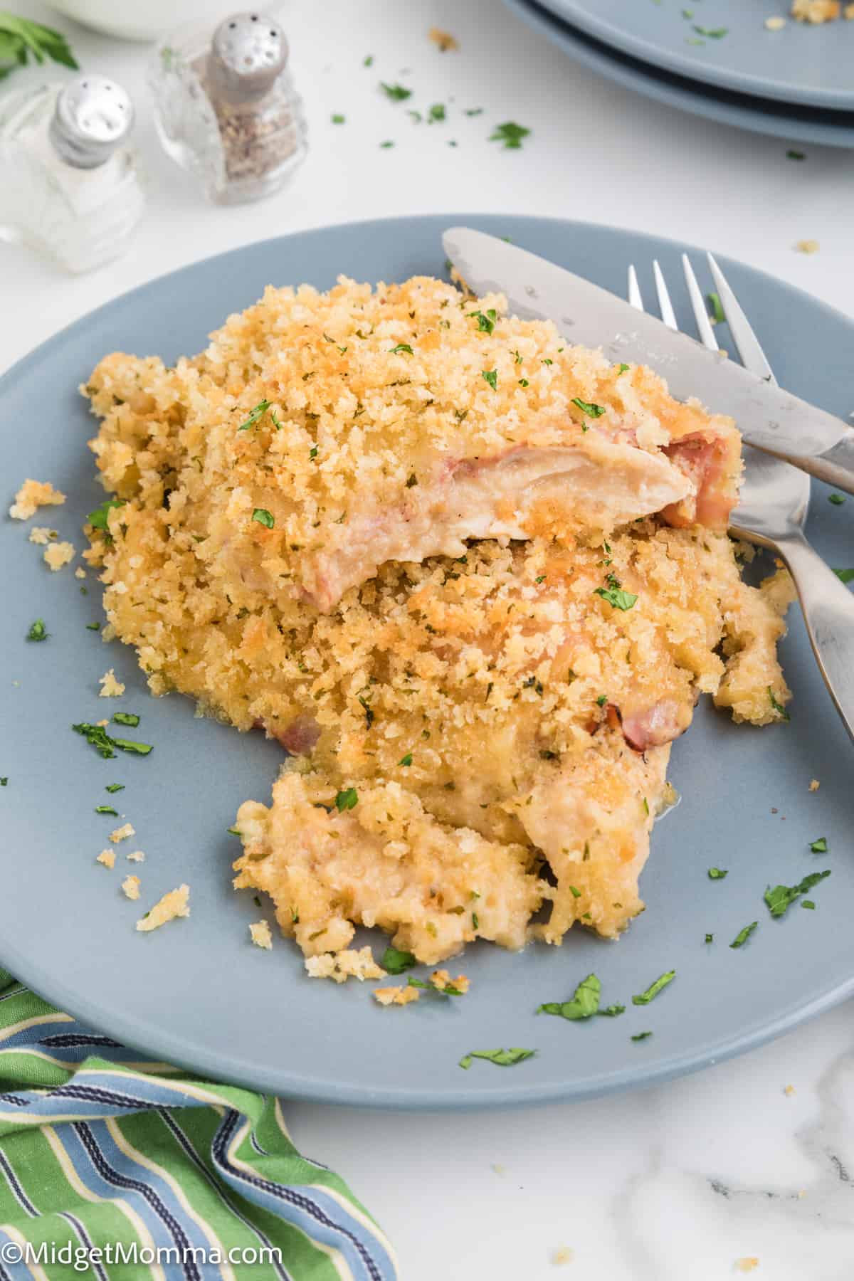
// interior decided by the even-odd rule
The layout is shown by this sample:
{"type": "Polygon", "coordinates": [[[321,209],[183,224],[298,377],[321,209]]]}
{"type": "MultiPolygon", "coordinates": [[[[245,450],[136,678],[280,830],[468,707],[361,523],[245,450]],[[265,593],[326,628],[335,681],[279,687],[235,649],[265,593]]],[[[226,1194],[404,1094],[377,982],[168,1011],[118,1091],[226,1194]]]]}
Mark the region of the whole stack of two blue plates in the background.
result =
{"type": "Polygon", "coordinates": [[[854,147],[854,23],[795,22],[786,0],[716,0],[703,13],[681,0],[504,3],[575,60],[667,106],[854,147]],[[768,17],[786,20],[771,29],[768,17]]]}

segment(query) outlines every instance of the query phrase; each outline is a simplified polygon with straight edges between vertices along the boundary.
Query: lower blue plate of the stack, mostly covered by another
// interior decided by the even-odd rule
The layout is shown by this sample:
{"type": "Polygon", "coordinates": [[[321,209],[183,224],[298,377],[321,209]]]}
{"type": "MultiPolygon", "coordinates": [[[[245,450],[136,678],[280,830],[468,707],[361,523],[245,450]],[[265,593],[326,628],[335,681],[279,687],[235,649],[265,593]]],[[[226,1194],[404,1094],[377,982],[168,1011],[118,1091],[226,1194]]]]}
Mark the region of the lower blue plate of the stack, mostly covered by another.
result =
{"type": "MultiPolygon", "coordinates": [[[[665,106],[702,115],[718,124],[769,133],[790,142],[854,147],[854,110],[825,111],[810,106],[789,106],[775,99],[753,97],[703,85],[697,79],[658,70],[647,61],[594,40],[561,20],[549,9],[535,4],[534,0],[504,0],[504,4],[575,61],[584,63],[607,79],[616,81],[617,85],[643,94],[665,106]]],[[[656,12],[656,6],[648,0],[640,0],[640,6],[644,13],[647,9],[656,12]]],[[[810,38],[810,32],[803,35],[810,38]]],[[[854,31],[846,31],[844,35],[854,37],[854,31]]]]}

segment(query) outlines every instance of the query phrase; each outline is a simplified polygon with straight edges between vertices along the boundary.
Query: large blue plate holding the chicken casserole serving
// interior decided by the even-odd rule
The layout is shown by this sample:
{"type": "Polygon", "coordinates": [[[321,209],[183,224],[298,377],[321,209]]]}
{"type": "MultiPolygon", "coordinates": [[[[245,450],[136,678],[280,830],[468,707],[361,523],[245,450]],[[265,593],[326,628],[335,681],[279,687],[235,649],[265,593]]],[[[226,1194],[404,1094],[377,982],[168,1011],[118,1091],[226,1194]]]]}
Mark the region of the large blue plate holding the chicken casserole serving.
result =
{"type": "MultiPolygon", "coordinates": [[[[51,480],[68,502],[44,509],[36,521],[81,550],[81,525],[102,494],[86,448],[95,424],[76,388],[102,354],[159,352],[172,361],[198,351],[207,332],[268,282],[325,288],[339,272],[362,281],[442,274],[440,233],[461,222],[510,236],[615,291],[626,264],[653,256],[676,279],[686,247],[583,223],[449,214],[302,232],[196,263],[70,325],[0,382],[4,502],[24,477],[51,480]]],[[[723,266],[782,383],[846,414],[854,324],[750,268],[723,266]]],[[[652,282],[641,284],[652,295],[652,282]]],[[[680,319],[688,324],[686,304],[680,319]]],[[[832,565],[851,564],[851,509],[854,501],[834,506],[816,487],[810,533],[832,565]]],[[[278,746],[196,717],[179,696],[151,698],[133,652],[87,630],[101,617],[95,576],[49,573],[27,528],[0,520],[0,775],[8,776],[0,788],[0,963],[92,1026],[260,1090],[383,1107],[472,1107],[579,1099],[675,1076],[758,1045],[854,991],[851,746],[796,608],[782,647],[795,692],[791,724],[757,730],[699,708],[673,748],[672,778],[684,799],[654,833],[643,876],[648,910],[620,943],[574,930],[561,948],[522,954],[478,945],[462,962],[467,997],[382,1009],[369,985],[309,980],[296,947],[279,936],[271,953],[250,944],[248,922],[270,913],[251,893],[232,890],[239,845],[227,828],[241,801],[269,799],[278,746]],[[36,617],[50,632],[40,644],[24,640],[36,617]],[[127,684],[120,701],[97,697],[108,667],[127,684]],[[105,761],[72,733],[72,722],[117,707],[141,716],[127,734],[154,743],[149,757],[105,761]],[[821,780],[816,794],[812,778],[821,780]],[[105,792],[110,783],[124,790],[105,792]],[[123,817],[96,815],[102,803],[123,817]],[[108,871],[95,856],[124,816],[136,835],[118,847],[108,871]],[[827,857],[809,852],[817,836],[827,836],[827,857]],[[146,861],[127,863],[128,848],[143,849],[146,861]],[[707,879],[713,865],[729,869],[726,880],[707,879]],[[825,867],[832,877],[813,892],[816,911],[795,904],[784,920],[769,918],[762,902],[768,884],[794,884],[825,867]],[[119,892],[125,871],[141,876],[140,903],[119,892]],[[141,910],[183,881],[189,920],[136,933],[141,910]],[[753,939],[731,951],[750,921],[759,921],[753,939]],[[704,943],[707,933],[713,944],[704,943]],[[631,1004],[671,968],[676,981],[653,1004],[631,1004]],[[568,997],[592,971],[607,1003],[627,1006],[622,1017],[583,1025],[535,1016],[540,1002],[568,997]],[[630,1040],[645,1030],[654,1035],[630,1040]],[[512,1068],[457,1066],[470,1049],[506,1045],[538,1056],[512,1068]]]]}

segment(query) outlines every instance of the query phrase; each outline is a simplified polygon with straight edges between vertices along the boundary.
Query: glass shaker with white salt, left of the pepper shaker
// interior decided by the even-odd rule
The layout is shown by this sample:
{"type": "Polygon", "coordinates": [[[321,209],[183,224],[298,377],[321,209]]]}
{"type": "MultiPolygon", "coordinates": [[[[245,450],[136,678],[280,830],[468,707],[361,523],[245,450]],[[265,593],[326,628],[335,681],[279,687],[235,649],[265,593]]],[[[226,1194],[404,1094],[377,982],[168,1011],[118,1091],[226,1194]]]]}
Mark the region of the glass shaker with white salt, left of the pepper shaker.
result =
{"type": "Polygon", "coordinates": [[[143,196],[125,140],[133,104],[105,76],[78,76],[0,99],[0,240],[69,272],[127,247],[143,196]]]}

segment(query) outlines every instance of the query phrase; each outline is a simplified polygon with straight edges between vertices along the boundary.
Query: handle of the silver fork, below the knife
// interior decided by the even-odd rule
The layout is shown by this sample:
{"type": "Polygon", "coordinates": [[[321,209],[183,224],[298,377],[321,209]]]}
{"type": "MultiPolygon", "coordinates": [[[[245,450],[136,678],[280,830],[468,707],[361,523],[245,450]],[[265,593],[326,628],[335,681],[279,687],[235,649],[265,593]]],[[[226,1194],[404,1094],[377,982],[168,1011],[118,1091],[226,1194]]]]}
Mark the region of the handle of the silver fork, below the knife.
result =
{"type": "Polygon", "coordinates": [[[803,534],[777,543],[789,566],[825,684],[854,739],[854,592],[834,574],[803,534]]]}

